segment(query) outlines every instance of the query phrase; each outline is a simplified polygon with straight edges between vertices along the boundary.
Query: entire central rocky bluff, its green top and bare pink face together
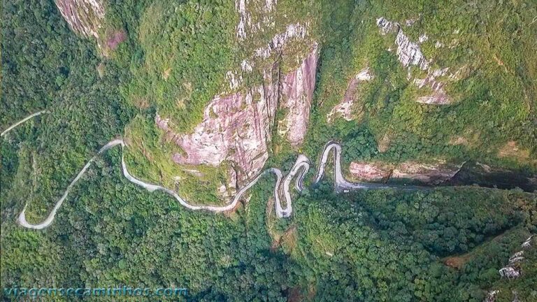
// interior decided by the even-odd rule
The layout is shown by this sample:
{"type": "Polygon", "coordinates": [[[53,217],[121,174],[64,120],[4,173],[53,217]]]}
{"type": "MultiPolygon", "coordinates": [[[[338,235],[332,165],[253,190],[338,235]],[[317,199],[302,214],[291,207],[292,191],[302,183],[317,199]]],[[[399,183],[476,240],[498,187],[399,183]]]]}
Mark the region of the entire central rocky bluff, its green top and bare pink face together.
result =
{"type": "Polygon", "coordinates": [[[206,17],[215,13],[213,7],[195,1],[170,3],[171,8],[152,4],[140,25],[147,38],[141,45],[152,55],[144,57],[148,68],[137,72],[147,74],[150,81],[137,78],[134,86],[146,89],[134,92],[131,99],[147,99],[157,115],[152,121],[138,117],[128,129],[127,136],[140,138],[132,140],[129,150],[136,160],[148,161],[148,172],[141,172],[141,178],[162,182],[194,202],[208,203],[204,195],[209,194],[212,203],[225,200],[262,171],[273,136],[281,136],[278,143],[298,148],[308,128],[318,36],[317,16],[303,12],[315,6],[265,0],[231,4],[222,5],[225,16],[210,18],[206,17]],[[185,12],[194,12],[199,20],[189,20],[184,28],[152,20],[165,15],[182,22],[178,15],[185,12]],[[162,36],[164,31],[173,33],[176,41],[170,43],[173,38],[162,36]],[[214,43],[213,32],[224,37],[220,39],[224,44],[208,47],[214,43]],[[184,41],[188,45],[178,50],[184,41]],[[222,61],[213,62],[213,57],[222,55],[222,61]],[[192,60],[166,62],[167,57],[183,56],[192,60]],[[208,75],[199,76],[198,71],[208,75]],[[195,110],[196,118],[185,117],[185,106],[195,110]],[[155,128],[158,131],[152,131],[155,128]],[[158,143],[145,143],[155,134],[158,143]],[[148,158],[146,153],[157,155],[148,158]],[[194,192],[197,181],[208,194],[194,192]]]}

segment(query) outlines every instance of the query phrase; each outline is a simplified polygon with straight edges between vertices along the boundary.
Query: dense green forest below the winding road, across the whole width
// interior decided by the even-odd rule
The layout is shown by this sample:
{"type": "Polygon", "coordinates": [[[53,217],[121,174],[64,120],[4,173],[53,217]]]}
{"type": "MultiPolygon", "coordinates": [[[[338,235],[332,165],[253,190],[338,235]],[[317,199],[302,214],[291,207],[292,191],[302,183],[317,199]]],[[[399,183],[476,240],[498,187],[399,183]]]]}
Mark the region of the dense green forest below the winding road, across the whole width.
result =
{"type": "Polygon", "coordinates": [[[324,183],[275,222],[273,233],[290,232],[275,243],[265,215],[272,181],[227,217],[178,208],[124,180],[119,166],[117,149],[99,159],[46,231],[3,224],[3,285],[45,286],[51,276],[56,286],[176,285],[191,301],[482,301],[496,285],[535,295],[524,287],[535,282],[533,250],[524,278],[505,284],[497,273],[537,231],[537,200],[525,194],[336,196],[324,183]],[[468,251],[461,268],[443,264],[468,251]]]}

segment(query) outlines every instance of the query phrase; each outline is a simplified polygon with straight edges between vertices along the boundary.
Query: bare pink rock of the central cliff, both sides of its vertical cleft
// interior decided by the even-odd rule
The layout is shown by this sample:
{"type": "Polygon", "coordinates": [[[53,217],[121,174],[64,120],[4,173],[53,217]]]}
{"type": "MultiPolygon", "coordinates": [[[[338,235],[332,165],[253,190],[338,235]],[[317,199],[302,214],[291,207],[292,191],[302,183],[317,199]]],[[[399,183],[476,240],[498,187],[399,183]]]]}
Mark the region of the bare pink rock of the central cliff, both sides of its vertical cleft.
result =
{"type": "Polygon", "coordinates": [[[292,145],[299,145],[306,134],[308,117],[315,87],[317,48],[303,59],[298,69],[280,80],[264,73],[266,85],[217,96],[206,107],[203,122],[192,134],[176,134],[169,120],[157,115],[155,122],[166,131],[166,137],[179,145],[184,154],[173,154],[177,164],[219,166],[231,161],[236,167],[238,180],[245,181],[257,175],[268,159],[268,143],[280,108],[287,110],[280,121],[292,145]],[[278,94],[280,91],[281,95],[278,94]]]}

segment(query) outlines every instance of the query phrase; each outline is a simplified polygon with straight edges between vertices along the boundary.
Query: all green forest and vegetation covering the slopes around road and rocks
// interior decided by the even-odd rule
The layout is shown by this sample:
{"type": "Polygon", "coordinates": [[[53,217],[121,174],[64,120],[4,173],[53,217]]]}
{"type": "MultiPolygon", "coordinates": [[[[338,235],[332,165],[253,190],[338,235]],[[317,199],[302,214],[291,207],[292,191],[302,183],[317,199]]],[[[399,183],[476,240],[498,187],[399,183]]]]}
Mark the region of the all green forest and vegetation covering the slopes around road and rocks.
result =
{"type": "MultiPolygon", "coordinates": [[[[71,31],[54,1],[3,1],[0,129],[48,113],[0,138],[0,287],[185,287],[188,301],[480,302],[497,289],[496,301],[515,295],[537,301],[536,240],[517,264],[520,278],[499,275],[537,233],[537,196],[520,189],[336,193],[328,175],[294,194],[294,215],[278,220],[267,177],[236,210],[214,214],[132,184],[115,148],[96,159],[50,227],[16,223],[25,205],[29,222],[41,222],[113,138],[129,141],[127,165],[140,178],[164,185],[170,183],[162,175],[185,178],[169,157],[180,150],[163,142],[155,113],[171,115],[177,131],[191,130],[213,96],[231,92],[226,71],[294,22],[308,24],[307,41],[256,63],[278,62],[289,71],[305,45],[319,43],[310,125],[300,150],[274,131],[266,166],[286,172],[298,152],[315,161],[324,143],[336,140],[344,165],[442,157],[536,173],[537,3],[294,2],[278,1],[275,27],[240,44],[238,2],[105,1],[103,26],[122,28],[127,38],[104,57],[92,39],[71,31]],[[413,101],[423,92],[387,51],[395,37],[379,34],[380,16],[399,22],[419,16],[404,30],[414,40],[429,34],[424,55],[438,68],[468,68],[464,79],[446,86],[453,105],[413,101]],[[436,48],[435,39],[457,39],[458,47],[436,48]],[[327,113],[365,66],[374,78],[357,91],[360,117],[329,124],[327,113]],[[462,134],[470,143],[447,143],[462,134]],[[390,144],[380,152],[384,136],[390,144]],[[522,151],[500,157],[510,141],[522,151]]],[[[262,7],[252,9],[253,23],[263,16],[262,7]]],[[[244,75],[237,91],[261,82],[259,72],[244,75]]],[[[227,166],[197,168],[206,178],[190,175],[173,189],[196,203],[222,202],[214,184],[227,166]]]]}

